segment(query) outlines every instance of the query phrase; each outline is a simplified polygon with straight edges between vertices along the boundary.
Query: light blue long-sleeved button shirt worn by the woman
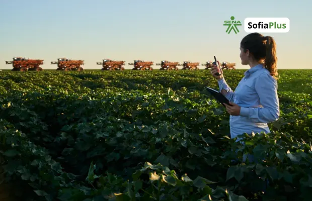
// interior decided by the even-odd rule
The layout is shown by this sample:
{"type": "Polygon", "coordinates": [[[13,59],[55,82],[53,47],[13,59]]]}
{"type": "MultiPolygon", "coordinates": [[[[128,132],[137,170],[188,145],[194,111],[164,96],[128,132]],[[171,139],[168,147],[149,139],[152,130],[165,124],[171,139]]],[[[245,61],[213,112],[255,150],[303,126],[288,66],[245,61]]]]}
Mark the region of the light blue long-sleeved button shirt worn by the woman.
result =
{"type": "Polygon", "coordinates": [[[248,133],[270,133],[268,123],[279,118],[277,81],[270,72],[259,64],[244,73],[235,91],[224,78],[218,81],[220,91],[225,89],[225,97],[241,107],[239,116],[230,115],[230,136],[248,133]]]}

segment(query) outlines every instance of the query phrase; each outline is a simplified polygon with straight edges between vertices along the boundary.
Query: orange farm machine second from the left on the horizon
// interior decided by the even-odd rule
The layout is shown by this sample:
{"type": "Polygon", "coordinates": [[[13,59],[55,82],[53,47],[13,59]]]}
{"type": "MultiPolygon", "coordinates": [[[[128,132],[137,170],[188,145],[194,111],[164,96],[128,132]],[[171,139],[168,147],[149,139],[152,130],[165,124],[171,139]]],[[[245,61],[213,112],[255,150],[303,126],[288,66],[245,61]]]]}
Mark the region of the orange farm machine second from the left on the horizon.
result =
{"type": "Polygon", "coordinates": [[[70,70],[76,70],[76,71],[83,71],[84,69],[80,67],[81,65],[84,65],[84,60],[71,60],[67,58],[59,58],[57,61],[51,61],[51,64],[57,64],[56,70],[64,70],[64,71],[70,71],[70,70]]]}

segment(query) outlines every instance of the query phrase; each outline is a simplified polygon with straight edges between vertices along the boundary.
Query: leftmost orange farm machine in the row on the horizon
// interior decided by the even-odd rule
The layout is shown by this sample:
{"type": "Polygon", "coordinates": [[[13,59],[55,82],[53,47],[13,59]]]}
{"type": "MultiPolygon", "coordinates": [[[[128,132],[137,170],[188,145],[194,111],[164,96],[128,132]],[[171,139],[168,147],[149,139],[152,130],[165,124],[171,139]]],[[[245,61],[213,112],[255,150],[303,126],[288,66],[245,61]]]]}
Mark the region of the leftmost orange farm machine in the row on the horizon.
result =
{"type": "Polygon", "coordinates": [[[25,59],[23,57],[14,57],[13,61],[6,61],[6,64],[12,64],[12,71],[42,71],[39,67],[43,64],[43,60],[40,59],[25,59]]]}

